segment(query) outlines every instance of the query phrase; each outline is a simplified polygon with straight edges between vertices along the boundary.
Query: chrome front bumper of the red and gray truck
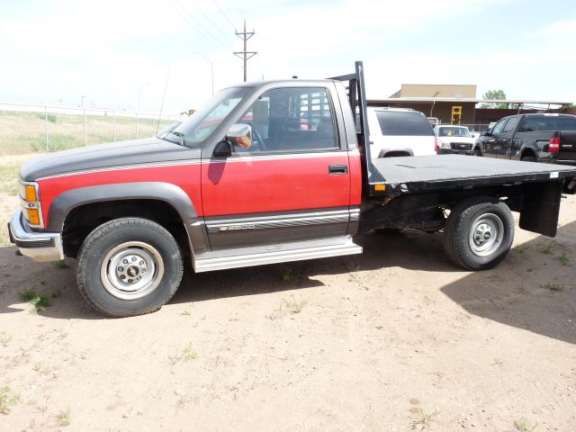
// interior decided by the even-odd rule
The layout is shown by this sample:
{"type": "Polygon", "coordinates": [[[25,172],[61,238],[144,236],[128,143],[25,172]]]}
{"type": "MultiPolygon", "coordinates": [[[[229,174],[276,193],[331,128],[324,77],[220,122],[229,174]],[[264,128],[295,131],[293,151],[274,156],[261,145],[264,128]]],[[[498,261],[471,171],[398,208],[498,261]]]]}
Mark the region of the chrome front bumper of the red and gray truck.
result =
{"type": "Polygon", "coordinates": [[[31,257],[34,261],[44,263],[64,259],[62,236],[59,232],[32,231],[24,220],[22,210],[14,213],[8,224],[10,241],[20,249],[22,255],[31,257]]]}

